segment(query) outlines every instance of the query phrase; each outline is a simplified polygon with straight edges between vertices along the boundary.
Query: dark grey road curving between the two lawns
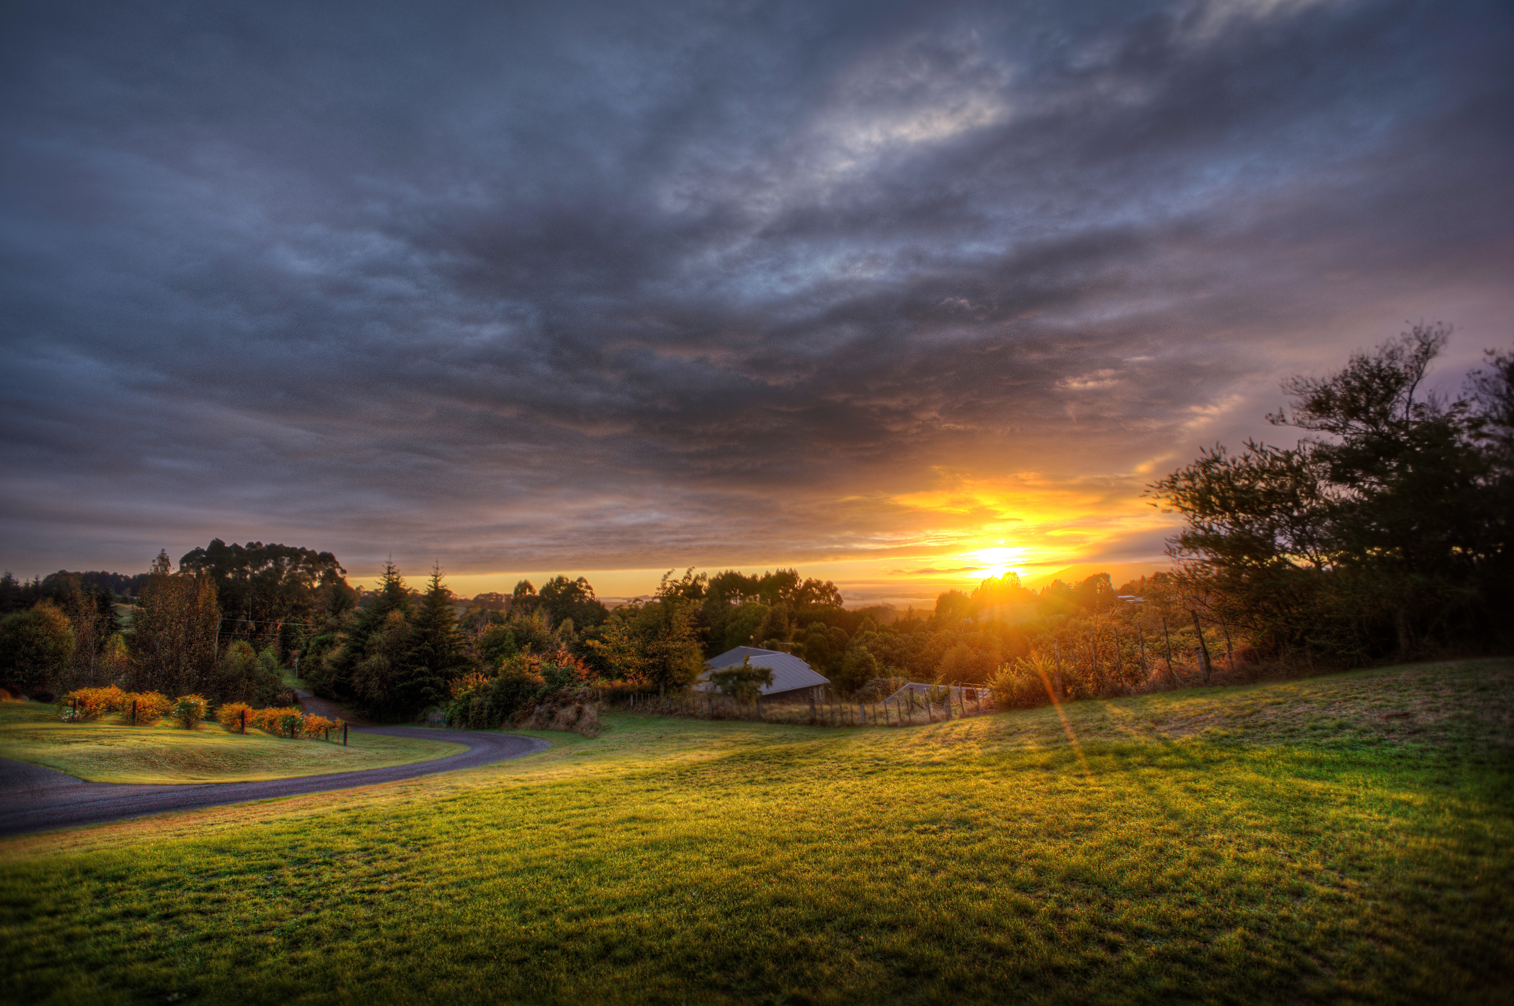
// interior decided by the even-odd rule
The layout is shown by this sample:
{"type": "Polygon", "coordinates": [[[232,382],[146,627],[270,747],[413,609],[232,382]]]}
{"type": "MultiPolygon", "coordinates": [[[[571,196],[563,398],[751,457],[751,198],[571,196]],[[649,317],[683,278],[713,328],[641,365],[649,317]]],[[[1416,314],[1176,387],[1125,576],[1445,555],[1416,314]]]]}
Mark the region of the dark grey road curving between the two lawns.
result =
{"type": "Polygon", "coordinates": [[[185,786],[133,786],[111,782],[83,782],[51,768],[0,758],[0,835],[42,832],[55,827],[103,824],[123,818],[192,811],[223,803],[297,797],[329,789],[351,789],[450,773],[459,768],[492,765],[533,754],[551,747],[547,741],[512,733],[481,730],[425,730],[421,727],[360,727],[360,733],[413,736],[427,741],[466,744],[468,750],[413,765],[368,768],[356,773],[269,779],[266,782],[221,782],[185,786]]]}

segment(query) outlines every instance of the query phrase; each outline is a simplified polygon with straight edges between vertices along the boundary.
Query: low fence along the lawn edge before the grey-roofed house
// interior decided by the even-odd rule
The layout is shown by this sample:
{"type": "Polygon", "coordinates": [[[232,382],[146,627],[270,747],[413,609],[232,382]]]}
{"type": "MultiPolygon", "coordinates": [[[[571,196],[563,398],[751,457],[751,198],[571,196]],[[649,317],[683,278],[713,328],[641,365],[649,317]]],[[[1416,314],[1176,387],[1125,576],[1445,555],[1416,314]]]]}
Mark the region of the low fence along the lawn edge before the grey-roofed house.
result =
{"type": "Polygon", "coordinates": [[[922,685],[910,686],[880,700],[812,698],[804,703],[737,701],[719,692],[690,691],[675,694],[630,694],[612,705],[628,712],[656,717],[690,717],[698,720],[748,720],[752,723],[792,723],[822,727],[904,727],[945,723],[993,712],[993,700],[986,688],[922,685]]]}

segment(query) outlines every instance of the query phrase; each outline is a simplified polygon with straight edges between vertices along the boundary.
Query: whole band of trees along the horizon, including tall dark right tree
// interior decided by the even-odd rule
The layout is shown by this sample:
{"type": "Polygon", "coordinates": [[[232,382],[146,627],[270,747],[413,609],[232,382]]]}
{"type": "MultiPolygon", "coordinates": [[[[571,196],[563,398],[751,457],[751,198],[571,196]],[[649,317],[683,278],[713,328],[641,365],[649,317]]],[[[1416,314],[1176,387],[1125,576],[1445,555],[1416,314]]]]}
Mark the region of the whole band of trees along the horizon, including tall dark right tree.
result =
{"type": "Polygon", "coordinates": [[[1184,518],[1173,567],[1119,588],[1096,574],[1030,589],[1007,574],[901,614],[849,609],[795,570],[687,570],[612,609],[583,577],[459,598],[441,570],[413,589],[388,564],[366,591],[329,551],[215,539],[177,571],[160,555],[136,577],[6,574],[0,685],[263,703],[294,668],[375,718],[444,706],[498,726],[587,685],[684,689],[736,645],[793,653],[840,694],[989,685],[1008,705],[1506,650],[1514,355],[1490,353],[1461,394],[1438,397],[1425,385],[1446,338],[1420,326],[1285,382],[1290,408],[1269,418],[1304,436],[1216,445],[1154,483],[1152,501],[1184,518]]]}

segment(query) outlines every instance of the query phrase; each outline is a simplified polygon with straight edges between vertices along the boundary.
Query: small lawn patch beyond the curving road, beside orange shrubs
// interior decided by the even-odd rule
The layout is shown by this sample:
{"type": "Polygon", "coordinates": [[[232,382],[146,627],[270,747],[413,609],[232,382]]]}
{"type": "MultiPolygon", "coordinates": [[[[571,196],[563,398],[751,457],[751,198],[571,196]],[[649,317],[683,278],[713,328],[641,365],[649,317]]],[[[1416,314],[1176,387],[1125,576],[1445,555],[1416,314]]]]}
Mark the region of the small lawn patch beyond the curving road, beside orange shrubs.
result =
{"type": "Polygon", "coordinates": [[[291,741],[260,730],[229,733],[218,723],[182,730],[168,721],[130,727],[106,715],[61,723],[58,709],[36,701],[0,703],[0,758],[47,765],[86,782],[191,783],[250,782],[321,773],[409,765],[463,750],[436,741],[351,733],[339,742],[291,741]]]}

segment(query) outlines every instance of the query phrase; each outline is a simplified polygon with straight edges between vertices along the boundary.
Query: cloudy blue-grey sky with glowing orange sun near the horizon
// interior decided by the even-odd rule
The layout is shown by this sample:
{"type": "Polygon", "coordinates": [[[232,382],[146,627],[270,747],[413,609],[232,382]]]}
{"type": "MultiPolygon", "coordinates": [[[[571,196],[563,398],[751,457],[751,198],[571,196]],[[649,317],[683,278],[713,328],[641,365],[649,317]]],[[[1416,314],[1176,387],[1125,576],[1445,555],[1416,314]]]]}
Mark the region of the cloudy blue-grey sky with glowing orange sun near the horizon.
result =
{"type": "Polygon", "coordinates": [[[1281,379],[1514,341],[1511,55],[1455,0],[9,3],[0,564],[1119,583],[1281,379]]]}

